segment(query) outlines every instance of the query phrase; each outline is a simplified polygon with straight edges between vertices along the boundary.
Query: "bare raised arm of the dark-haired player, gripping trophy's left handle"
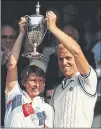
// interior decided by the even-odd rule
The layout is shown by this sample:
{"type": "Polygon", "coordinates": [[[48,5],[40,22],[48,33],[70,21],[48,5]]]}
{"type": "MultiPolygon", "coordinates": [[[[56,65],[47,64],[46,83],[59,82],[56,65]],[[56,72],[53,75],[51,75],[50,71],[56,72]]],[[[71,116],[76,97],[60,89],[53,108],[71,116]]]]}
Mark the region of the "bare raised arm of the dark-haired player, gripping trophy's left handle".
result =
{"type": "Polygon", "coordinates": [[[20,50],[21,50],[21,46],[22,46],[22,42],[25,34],[25,25],[26,25],[26,20],[24,17],[21,17],[21,20],[19,22],[20,32],[14,43],[14,46],[12,48],[12,51],[9,57],[9,62],[8,62],[8,71],[7,71],[7,77],[6,77],[7,92],[12,90],[12,88],[15,86],[18,80],[17,63],[18,63],[20,50]]]}

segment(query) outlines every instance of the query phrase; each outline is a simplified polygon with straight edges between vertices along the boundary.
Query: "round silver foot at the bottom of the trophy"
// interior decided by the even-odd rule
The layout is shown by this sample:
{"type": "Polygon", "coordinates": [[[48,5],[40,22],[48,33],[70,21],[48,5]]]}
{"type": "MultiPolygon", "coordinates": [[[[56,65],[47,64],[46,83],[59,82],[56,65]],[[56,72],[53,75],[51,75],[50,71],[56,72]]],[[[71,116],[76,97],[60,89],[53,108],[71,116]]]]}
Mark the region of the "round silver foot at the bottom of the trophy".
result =
{"type": "Polygon", "coordinates": [[[31,59],[31,58],[34,58],[34,59],[43,58],[43,55],[38,53],[38,52],[30,52],[30,53],[23,54],[22,56],[29,58],[29,59],[31,59]]]}

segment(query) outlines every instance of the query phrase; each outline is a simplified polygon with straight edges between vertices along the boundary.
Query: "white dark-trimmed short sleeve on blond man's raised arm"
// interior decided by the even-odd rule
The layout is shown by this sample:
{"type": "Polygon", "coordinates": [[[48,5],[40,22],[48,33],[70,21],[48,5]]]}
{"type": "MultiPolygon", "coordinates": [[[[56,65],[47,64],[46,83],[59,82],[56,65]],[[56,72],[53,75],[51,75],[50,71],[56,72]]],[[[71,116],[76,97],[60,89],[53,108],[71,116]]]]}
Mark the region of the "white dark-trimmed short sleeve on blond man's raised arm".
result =
{"type": "Polygon", "coordinates": [[[90,95],[96,94],[97,88],[97,75],[92,67],[90,67],[90,72],[87,76],[80,76],[79,81],[84,88],[85,92],[90,95]]]}

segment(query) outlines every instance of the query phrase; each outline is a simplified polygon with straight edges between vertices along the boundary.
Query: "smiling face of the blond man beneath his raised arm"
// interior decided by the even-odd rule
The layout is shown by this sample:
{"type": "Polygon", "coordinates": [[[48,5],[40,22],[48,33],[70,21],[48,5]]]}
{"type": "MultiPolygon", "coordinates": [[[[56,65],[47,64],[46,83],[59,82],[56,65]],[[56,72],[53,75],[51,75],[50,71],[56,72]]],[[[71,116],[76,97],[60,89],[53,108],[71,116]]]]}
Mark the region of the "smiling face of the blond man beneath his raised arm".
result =
{"type": "Polygon", "coordinates": [[[58,64],[65,77],[72,77],[78,71],[73,55],[60,44],[57,49],[58,64]]]}

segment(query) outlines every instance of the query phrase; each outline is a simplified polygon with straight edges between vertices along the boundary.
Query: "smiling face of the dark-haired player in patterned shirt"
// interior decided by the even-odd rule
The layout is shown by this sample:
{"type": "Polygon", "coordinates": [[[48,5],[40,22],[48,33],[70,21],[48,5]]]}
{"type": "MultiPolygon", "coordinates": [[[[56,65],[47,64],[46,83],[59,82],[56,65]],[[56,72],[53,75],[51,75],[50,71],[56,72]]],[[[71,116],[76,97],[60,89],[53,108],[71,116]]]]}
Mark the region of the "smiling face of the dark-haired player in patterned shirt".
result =
{"type": "Polygon", "coordinates": [[[45,79],[32,73],[27,78],[27,81],[24,86],[30,98],[34,98],[44,90],[45,79]]]}

